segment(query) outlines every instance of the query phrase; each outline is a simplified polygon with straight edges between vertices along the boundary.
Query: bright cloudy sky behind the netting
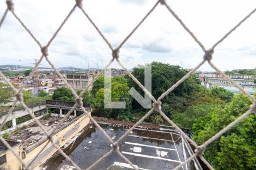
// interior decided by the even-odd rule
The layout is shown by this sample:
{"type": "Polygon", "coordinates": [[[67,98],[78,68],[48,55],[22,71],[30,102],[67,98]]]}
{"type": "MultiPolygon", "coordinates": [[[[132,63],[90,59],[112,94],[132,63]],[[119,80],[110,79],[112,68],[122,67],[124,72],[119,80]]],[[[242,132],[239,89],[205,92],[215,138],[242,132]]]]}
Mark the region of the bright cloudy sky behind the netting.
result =
{"type": "MultiPolygon", "coordinates": [[[[155,4],[155,0],[84,0],[83,7],[112,46],[116,47],[155,4]]],[[[75,0],[14,0],[15,12],[35,37],[45,45],[71,10],[75,0]]],[[[234,1],[168,1],[196,37],[210,48],[234,25],[256,7],[255,0],[234,1]]],[[[0,1],[0,18],[5,11],[0,1]]],[[[213,63],[221,70],[256,67],[256,14],[217,46],[213,63]]],[[[104,67],[112,58],[105,41],[76,8],[68,22],[48,49],[56,67],[73,66],[86,69],[104,67]]],[[[203,52],[192,37],[159,5],[137,29],[120,51],[120,60],[129,69],[137,63],[159,61],[195,67],[203,52]]],[[[9,12],[0,28],[0,65],[32,66],[41,55],[39,46],[9,12]]],[[[40,66],[49,66],[44,60],[40,66]]],[[[110,67],[115,67],[113,63],[110,67]]],[[[199,70],[212,71],[205,63],[199,70]]]]}

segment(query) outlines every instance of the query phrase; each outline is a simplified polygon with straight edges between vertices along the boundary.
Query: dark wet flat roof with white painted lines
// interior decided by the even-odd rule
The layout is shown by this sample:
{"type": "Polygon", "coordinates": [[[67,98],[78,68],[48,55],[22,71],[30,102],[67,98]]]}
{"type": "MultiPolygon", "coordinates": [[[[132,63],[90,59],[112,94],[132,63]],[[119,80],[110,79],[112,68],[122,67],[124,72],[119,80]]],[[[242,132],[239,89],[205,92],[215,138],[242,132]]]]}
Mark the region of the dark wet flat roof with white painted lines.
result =
{"type": "MultiPolygon", "coordinates": [[[[106,133],[117,141],[127,130],[128,125],[100,124],[106,133]]],[[[81,169],[90,167],[112,149],[108,139],[92,125],[89,133],[71,152],[69,157],[81,169]]],[[[174,129],[152,130],[136,128],[119,143],[119,150],[138,169],[172,169],[189,158],[188,144],[174,129]]],[[[75,169],[63,158],[52,157],[42,165],[44,169],[75,169]]],[[[98,163],[93,169],[132,169],[116,152],[98,163]]],[[[184,169],[198,169],[192,161],[184,169]]]]}

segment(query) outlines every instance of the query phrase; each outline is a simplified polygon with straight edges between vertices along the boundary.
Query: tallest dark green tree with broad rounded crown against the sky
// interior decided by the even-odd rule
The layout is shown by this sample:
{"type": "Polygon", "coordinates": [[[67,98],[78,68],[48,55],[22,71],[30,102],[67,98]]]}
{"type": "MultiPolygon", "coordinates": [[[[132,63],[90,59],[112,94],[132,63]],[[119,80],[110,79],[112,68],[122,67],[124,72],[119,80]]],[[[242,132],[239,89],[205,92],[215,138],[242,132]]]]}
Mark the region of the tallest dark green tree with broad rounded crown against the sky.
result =
{"type": "MultiPolygon", "coordinates": [[[[145,66],[137,66],[133,68],[133,75],[144,84],[144,68],[145,66]]],[[[181,69],[179,66],[169,65],[162,62],[151,63],[151,75],[152,75],[152,95],[157,99],[160,95],[172,87],[178,80],[180,80],[188,71],[181,69]]],[[[130,87],[134,87],[135,90],[144,96],[142,89],[135,83],[129,76],[126,75],[128,84],[130,87]]],[[[164,97],[162,100],[162,108],[164,113],[168,117],[172,118],[174,112],[183,112],[187,107],[188,96],[191,96],[193,92],[200,89],[199,79],[196,74],[193,74],[185,82],[177,86],[170,94],[164,97]],[[165,104],[165,105],[164,105],[165,104]]],[[[144,111],[141,105],[135,100],[132,100],[133,111],[144,111]]]]}

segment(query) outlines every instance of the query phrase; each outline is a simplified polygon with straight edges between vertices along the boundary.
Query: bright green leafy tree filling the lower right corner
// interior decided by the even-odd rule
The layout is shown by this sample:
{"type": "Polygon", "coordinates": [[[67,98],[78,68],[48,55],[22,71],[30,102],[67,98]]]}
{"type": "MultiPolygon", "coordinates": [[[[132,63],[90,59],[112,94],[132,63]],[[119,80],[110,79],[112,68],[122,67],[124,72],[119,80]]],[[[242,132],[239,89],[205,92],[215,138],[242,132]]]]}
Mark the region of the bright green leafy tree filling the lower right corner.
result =
{"type": "MultiPolygon", "coordinates": [[[[194,139],[201,145],[250,108],[251,101],[242,94],[234,95],[225,108],[216,107],[193,125],[194,139]]],[[[256,116],[239,124],[214,141],[205,150],[205,157],[216,169],[256,169],[256,116]]]]}

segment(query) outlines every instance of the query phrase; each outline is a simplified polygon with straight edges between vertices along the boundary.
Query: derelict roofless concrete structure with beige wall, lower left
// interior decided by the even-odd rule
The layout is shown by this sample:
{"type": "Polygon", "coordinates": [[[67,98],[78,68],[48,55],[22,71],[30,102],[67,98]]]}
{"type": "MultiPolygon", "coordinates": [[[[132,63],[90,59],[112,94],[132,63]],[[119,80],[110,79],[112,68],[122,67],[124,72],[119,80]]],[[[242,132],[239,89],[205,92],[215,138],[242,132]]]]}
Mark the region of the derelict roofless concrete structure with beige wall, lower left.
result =
{"type": "MultiPolygon", "coordinates": [[[[48,133],[52,133],[65,116],[62,114],[62,111],[70,110],[74,104],[75,103],[66,101],[46,100],[30,105],[29,108],[35,116],[37,113],[40,113],[40,116],[36,118],[39,119],[39,122],[48,133]],[[51,108],[59,109],[59,114],[44,114],[48,113],[48,109],[51,108]],[[48,115],[48,117],[43,117],[43,115],[48,115]]],[[[90,104],[84,104],[84,107],[90,113],[90,104]]],[[[79,131],[89,124],[90,119],[86,113],[81,113],[80,116],[77,116],[77,111],[81,112],[81,109],[76,108],[73,115],[69,116],[52,134],[54,143],[59,147],[64,146],[65,143],[73,139],[79,131]]],[[[2,112],[0,115],[0,121],[2,123],[7,112],[2,112]]],[[[15,153],[19,155],[27,165],[30,164],[31,169],[34,169],[54,154],[57,149],[51,142],[48,143],[47,135],[34,120],[28,120],[22,124],[16,125],[16,119],[27,115],[27,111],[24,111],[23,108],[15,109],[11,116],[7,118],[8,121],[12,122],[13,127],[1,131],[1,133],[3,134],[9,131],[12,134],[12,139],[6,141],[9,141],[9,145],[13,147],[15,153]],[[14,132],[14,129],[17,133],[14,132]]],[[[0,169],[22,169],[22,164],[16,159],[13,152],[7,149],[2,143],[0,144],[0,169]]]]}

